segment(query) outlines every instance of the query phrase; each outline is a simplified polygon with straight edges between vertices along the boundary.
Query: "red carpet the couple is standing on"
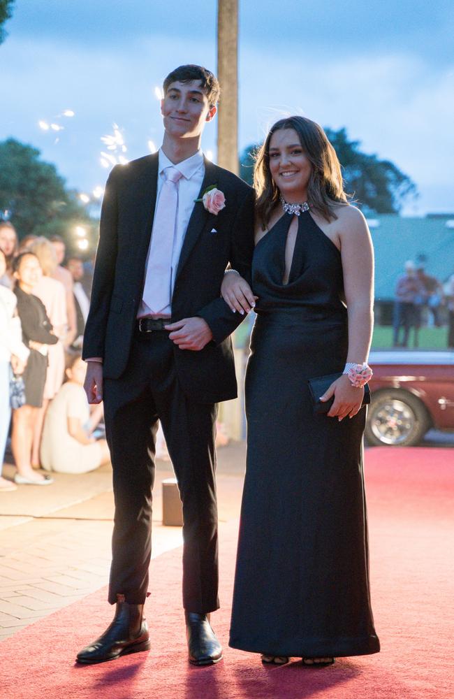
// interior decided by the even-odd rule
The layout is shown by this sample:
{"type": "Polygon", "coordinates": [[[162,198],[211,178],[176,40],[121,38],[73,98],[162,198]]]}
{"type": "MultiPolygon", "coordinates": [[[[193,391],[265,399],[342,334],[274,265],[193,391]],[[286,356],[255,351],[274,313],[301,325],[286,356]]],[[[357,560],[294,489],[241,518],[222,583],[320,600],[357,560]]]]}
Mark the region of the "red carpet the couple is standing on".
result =
{"type": "MultiPolygon", "coordinates": [[[[105,590],[1,643],[3,699],[441,699],[454,696],[452,449],[369,449],[366,456],[372,601],[381,654],[326,669],[263,668],[227,649],[211,668],[186,663],[181,550],[152,565],[149,653],[87,667],[76,651],[110,621],[105,590]],[[451,549],[450,549],[451,543],[451,549]],[[161,600],[159,602],[159,600],[161,600]]],[[[236,523],[221,528],[221,601],[213,625],[225,646],[236,523]]]]}

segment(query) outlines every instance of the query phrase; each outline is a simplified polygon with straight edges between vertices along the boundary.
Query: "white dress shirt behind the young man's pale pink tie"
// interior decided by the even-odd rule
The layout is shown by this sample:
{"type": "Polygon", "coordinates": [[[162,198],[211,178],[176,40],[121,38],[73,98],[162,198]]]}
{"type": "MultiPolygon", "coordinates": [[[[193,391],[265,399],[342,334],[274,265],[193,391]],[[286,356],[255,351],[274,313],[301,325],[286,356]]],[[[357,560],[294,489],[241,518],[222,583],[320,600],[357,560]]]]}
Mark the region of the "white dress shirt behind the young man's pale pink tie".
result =
{"type": "MultiPolygon", "coordinates": [[[[171,289],[175,287],[175,277],[177,275],[178,261],[180,260],[180,253],[182,251],[184,236],[186,235],[186,229],[189,224],[189,219],[191,218],[191,213],[194,207],[194,200],[198,198],[200,192],[200,187],[202,186],[203,177],[205,175],[205,164],[203,162],[203,153],[198,150],[190,158],[183,160],[181,163],[174,165],[163,152],[159,149],[159,165],[158,165],[158,183],[156,190],[156,206],[159,201],[159,194],[161,193],[162,185],[165,180],[163,175],[164,168],[174,167],[182,173],[182,178],[177,182],[178,191],[178,204],[177,204],[177,219],[175,225],[175,236],[172,241],[169,240],[169,245],[173,246],[172,252],[172,282],[171,289]]],[[[159,231],[152,229],[152,237],[159,235],[159,231]]],[[[151,243],[150,243],[151,246],[151,243]]],[[[147,261],[145,263],[145,268],[147,270],[147,275],[149,274],[159,274],[159,261],[156,261],[156,269],[154,269],[154,261],[149,261],[149,250],[147,254],[147,261]]],[[[146,286],[146,280],[144,286],[146,286]]],[[[159,312],[160,317],[170,317],[172,309],[170,305],[159,312]]],[[[142,318],[145,316],[156,315],[153,308],[150,308],[145,301],[141,301],[137,317],[142,318]]]]}

